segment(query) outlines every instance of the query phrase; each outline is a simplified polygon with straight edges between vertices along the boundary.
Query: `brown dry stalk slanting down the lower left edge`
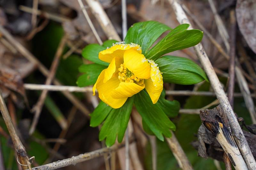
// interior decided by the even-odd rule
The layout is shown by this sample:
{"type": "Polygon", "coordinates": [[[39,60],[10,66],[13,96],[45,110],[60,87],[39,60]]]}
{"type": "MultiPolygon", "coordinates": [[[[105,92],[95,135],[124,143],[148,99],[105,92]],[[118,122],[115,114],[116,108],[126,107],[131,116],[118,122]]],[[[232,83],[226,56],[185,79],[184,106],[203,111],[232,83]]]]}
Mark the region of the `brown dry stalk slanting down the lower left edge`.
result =
{"type": "Polygon", "coordinates": [[[22,169],[27,169],[27,168],[31,169],[31,165],[30,165],[30,162],[28,159],[26,149],[23,146],[23,144],[21,143],[20,138],[17,135],[16,130],[12,124],[12,119],[11,119],[9,112],[7,110],[7,107],[4,103],[4,98],[2,96],[1,91],[0,91],[0,110],[1,110],[4,122],[6,124],[6,127],[9,131],[11,138],[12,138],[12,143],[14,145],[15,151],[18,155],[17,160],[19,160],[20,164],[22,164],[21,165],[22,169]],[[23,165],[25,165],[25,166],[23,166],[23,165]]]}

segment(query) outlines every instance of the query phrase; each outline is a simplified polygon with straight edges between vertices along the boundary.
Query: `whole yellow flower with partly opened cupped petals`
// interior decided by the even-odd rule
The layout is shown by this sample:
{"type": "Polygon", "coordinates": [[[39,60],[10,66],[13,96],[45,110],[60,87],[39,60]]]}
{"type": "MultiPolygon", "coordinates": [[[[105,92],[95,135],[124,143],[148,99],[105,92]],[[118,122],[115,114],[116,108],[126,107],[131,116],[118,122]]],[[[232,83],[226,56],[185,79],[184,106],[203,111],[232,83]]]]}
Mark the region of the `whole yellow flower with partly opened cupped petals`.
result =
{"type": "Polygon", "coordinates": [[[144,88],[155,104],[163,90],[163,77],[153,60],[141,54],[137,44],[113,44],[99,53],[99,59],[110,63],[93,86],[100,99],[113,108],[122,107],[128,97],[144,88]]]}

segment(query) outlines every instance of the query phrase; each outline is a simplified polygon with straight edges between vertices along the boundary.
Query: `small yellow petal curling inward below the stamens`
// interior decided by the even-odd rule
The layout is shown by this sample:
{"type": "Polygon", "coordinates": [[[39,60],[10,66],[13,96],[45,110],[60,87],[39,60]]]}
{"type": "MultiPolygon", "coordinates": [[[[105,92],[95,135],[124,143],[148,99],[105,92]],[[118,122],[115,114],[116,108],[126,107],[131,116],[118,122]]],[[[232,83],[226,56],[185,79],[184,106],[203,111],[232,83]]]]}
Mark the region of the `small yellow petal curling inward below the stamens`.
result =
{"type": "Polygon", "coordinates": [[[111,92],[113,99],[123,99],[132,97],[145,88],[145,85],[137,85],[131,82],[121,82],[119,86],[111,92]]]}

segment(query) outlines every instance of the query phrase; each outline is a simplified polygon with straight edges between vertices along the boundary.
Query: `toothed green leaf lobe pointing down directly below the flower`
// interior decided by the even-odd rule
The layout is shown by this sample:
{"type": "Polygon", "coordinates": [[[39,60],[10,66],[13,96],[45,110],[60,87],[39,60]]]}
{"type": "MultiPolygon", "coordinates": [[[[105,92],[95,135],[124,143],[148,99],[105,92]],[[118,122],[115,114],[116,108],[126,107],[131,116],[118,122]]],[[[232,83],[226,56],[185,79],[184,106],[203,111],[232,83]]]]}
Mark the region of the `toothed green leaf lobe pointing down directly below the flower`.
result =
{"type": "Polygon", "coordinates": [[[100,129],[100,141],[106,138],[106,145],[112,146],[117,140],[122,142],[124,132],[127,128],[129,118],[132,112],[134,97],[129,97],[124,105],[118,109],[112,109],[100,129]]]}

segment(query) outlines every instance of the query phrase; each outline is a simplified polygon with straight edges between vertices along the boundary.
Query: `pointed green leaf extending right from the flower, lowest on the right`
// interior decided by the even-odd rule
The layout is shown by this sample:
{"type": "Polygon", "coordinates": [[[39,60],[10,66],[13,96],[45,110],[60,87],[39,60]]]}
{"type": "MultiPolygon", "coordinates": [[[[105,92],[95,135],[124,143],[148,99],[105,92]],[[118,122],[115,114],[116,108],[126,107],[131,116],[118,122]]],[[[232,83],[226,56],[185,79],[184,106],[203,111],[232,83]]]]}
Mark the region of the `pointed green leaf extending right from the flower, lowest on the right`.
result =
{"type": "Polygon", "coordinates": [[[193,85],[208,81],[204,70],[188,58],[166,55],[155,61],[163,72],[163,80],[180,85],[193,85]]]}

